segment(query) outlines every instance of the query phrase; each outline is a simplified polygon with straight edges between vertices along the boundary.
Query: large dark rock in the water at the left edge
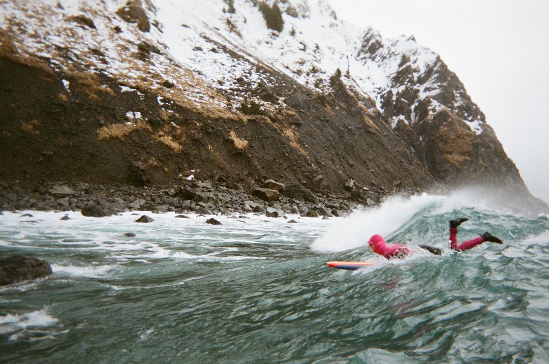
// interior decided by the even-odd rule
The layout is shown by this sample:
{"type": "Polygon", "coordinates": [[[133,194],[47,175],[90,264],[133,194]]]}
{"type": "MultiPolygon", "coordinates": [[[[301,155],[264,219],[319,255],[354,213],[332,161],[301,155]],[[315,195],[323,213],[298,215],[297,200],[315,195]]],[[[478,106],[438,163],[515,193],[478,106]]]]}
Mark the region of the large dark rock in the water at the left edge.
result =
{"type": "Polygon", "coordinates": [[[52,267],[42,259],[21,255],[0,259],[0,285],[46,277],[51,274],[52,267]]]}

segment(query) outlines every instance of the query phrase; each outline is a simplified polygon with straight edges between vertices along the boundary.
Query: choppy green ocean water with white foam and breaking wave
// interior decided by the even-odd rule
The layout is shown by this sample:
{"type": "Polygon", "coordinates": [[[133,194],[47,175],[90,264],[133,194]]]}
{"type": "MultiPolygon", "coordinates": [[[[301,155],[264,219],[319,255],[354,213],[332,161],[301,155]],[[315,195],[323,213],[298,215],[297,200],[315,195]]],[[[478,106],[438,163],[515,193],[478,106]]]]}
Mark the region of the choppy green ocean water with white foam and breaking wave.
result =
{"type": "Polygon", "coordinates": [[[0,288],[0,362],[549,362],[547,216],[462,194],[288,216],[298,223],[143,213],[155,221],[0,216],[0,255],[40,257],[54,272],[0,288]],[[458,216],[470,219],[460,241],[489,231],[505,244],[451,253],[458,216]],[[415,254],[373,254],[374,233],[415,254]],[[351,272],[329,260],[375,264],[351,272]]]}

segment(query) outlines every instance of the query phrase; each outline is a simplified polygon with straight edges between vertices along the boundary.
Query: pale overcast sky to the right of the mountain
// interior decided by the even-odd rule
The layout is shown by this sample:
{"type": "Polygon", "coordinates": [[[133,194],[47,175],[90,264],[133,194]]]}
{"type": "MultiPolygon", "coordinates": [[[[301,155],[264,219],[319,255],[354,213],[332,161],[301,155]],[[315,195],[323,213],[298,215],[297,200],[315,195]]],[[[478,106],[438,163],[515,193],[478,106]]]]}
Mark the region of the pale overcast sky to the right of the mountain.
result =
{"type": "Polygon", "coordinates": [[[465,85],[536,197],[549,202],[549,1],[328,0],[383,37],[414,35],[465,85]]]}

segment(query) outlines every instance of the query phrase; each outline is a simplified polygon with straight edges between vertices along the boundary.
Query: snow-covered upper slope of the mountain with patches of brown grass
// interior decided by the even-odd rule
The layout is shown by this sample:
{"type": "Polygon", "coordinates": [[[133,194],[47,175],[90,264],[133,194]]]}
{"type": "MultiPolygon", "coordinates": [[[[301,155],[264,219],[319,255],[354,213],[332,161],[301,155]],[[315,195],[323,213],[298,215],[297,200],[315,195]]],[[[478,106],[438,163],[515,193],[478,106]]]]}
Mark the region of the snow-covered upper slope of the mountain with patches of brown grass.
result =
{"type": "MultiPolygon", "coordinates": [[[[339,69],[346,76],[343,82],[373,99],[393,126],[398,120],[417,121],[414,113],[385,112],[386,99],[396,103],[403,93],[415,94],[407,100],[411,110],[429,98],[431,114],[467,101],[459,89],[451,103],[436,99],[442,87],[437,54],[412,37],[386,39],[371,28],[361,30],[338,20],[324,0],[278,3],[284,21],[281,32],[267,28],[253,0],[133,3],[143,6],[150,31],[140,31],[117,15],[125,0],[3,0],[0,24],[20,54],[49,59],[58,71],[100,72],[124,87],[149,89],[198,109],[234,112],[250,88],[284,86],[270,70],[328,93],[329,78],[339,69]],[[229,13],[229,3],[234,13],[229,13]],[[93,27],[82,24],[79,16],[91,19],[93,27]],[[152,51],[140,52],[142,42],[152,51]],[[176,86],[166,88],[166,81],[176,86]]],[[[282,100],[260,103],[267,109],[284,107],[282,100]]],[[[477,134],[482,132],[481,113],[460,116],[477,134]]]]}

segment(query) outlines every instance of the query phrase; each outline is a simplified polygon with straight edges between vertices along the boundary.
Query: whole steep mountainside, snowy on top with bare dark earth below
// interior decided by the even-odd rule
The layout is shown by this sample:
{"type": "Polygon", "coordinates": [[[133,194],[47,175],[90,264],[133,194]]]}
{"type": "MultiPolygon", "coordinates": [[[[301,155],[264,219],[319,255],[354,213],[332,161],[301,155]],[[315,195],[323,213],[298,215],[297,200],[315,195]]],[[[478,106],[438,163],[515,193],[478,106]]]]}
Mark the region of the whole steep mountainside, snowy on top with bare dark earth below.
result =
{"type": "Polygon", "coordinates": [[[346,24],[322,0],[0,10],[4,180],[271,177],[365,200],[497,180],[529,196],[438,55],[346,24]]]}

